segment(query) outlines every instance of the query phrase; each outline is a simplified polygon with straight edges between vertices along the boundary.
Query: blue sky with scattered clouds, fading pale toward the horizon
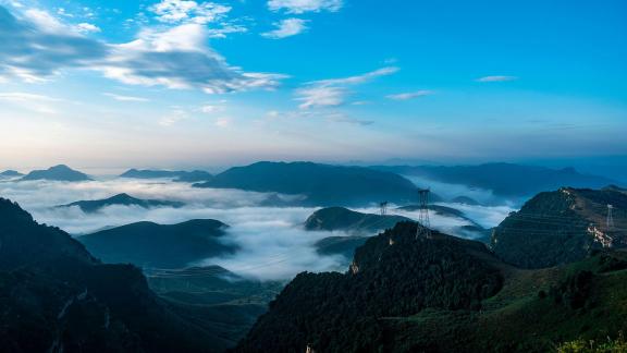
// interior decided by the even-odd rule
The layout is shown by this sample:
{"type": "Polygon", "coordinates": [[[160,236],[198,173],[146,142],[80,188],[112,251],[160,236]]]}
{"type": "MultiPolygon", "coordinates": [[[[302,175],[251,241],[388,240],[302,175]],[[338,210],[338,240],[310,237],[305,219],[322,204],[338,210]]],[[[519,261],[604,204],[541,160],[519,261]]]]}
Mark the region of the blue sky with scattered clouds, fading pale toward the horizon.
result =
{"type": "Polygon", "coordinates": [[[627,156],[627,3],[0,0],[0,168],[627,156]]]}

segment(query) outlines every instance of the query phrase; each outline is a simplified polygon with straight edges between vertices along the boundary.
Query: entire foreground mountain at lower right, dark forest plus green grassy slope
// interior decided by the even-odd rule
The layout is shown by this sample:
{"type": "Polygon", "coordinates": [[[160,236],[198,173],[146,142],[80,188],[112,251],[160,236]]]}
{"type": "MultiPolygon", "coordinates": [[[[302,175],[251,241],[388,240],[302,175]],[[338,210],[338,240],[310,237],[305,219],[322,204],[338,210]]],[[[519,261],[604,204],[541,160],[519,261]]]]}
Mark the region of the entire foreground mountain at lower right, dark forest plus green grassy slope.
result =
{"type": "Polygon", "coordinates": [[[346,273],[299,273],[235,352],[549,352],[627,329],[627,253],[522,270],[483,244],[403,222],[346,273]],[[390,242],[393,240],[393,242],[390,242]]]}

